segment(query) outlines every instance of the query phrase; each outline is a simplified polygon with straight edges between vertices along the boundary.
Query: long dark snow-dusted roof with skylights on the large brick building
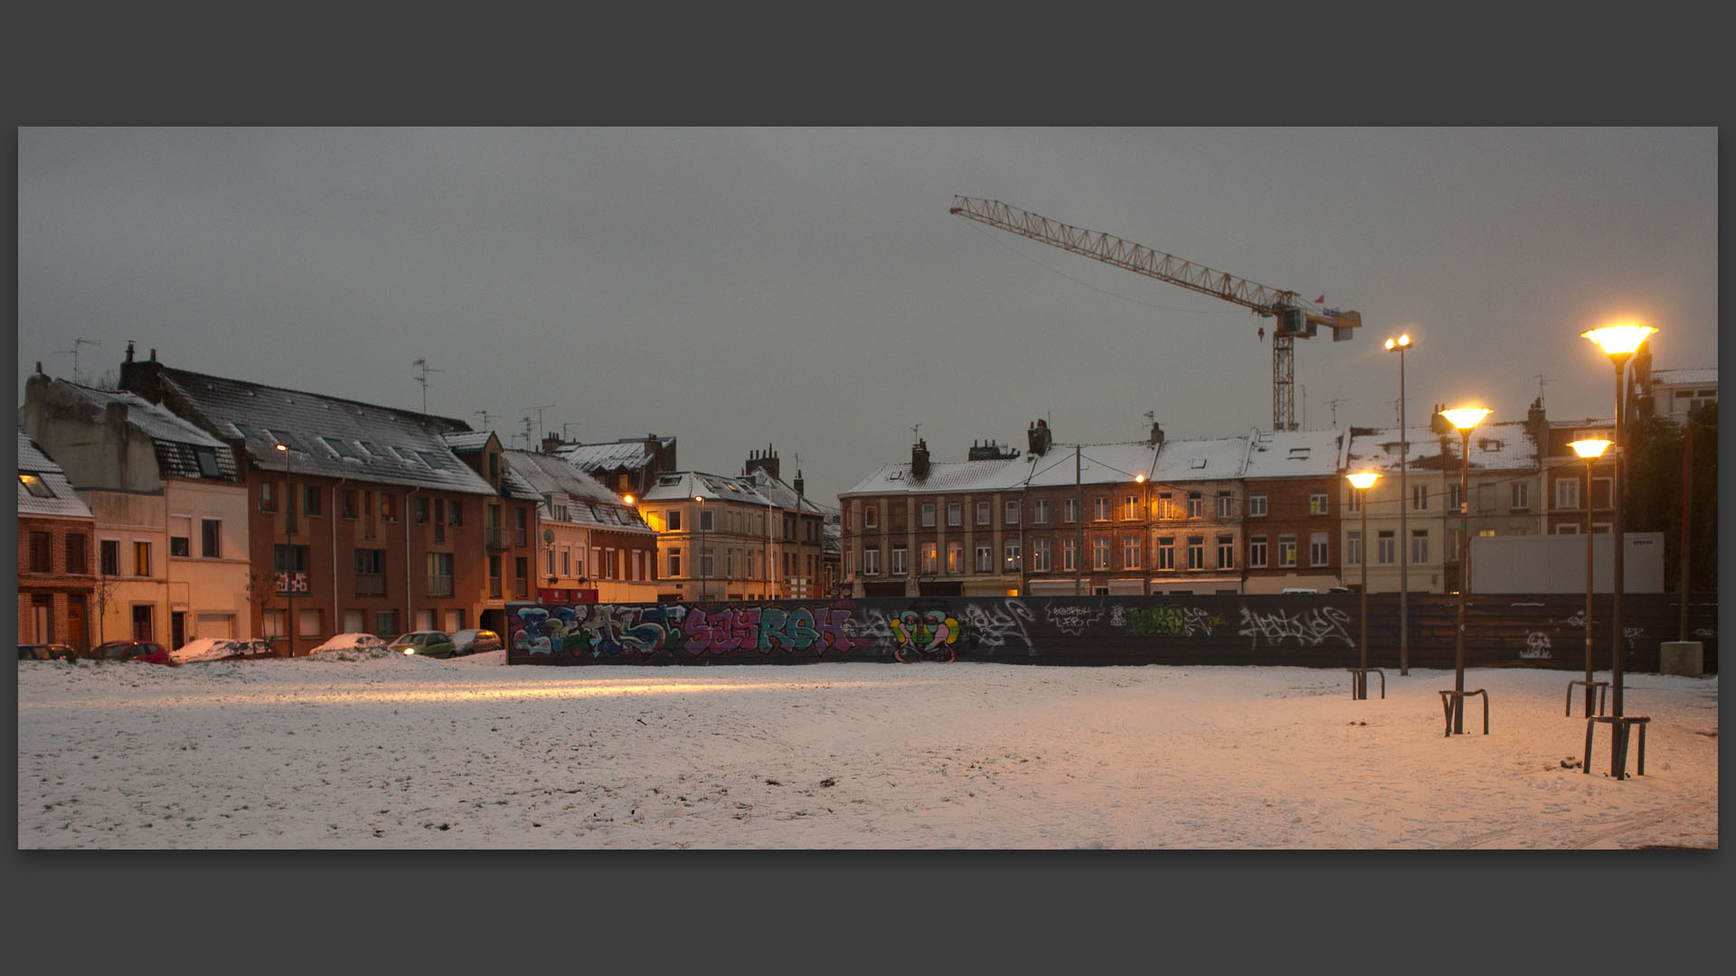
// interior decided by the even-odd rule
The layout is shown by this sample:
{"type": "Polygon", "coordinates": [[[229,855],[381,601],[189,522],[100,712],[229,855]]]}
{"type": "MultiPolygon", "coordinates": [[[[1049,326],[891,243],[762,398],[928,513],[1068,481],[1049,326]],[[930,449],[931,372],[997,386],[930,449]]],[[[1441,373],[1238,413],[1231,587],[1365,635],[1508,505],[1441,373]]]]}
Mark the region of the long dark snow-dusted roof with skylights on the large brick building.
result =
{"type": "Polygon", "coordinates": [[[208,431],[241,438],[259,467],[283,467],[283,452],[274,446],[281,441],[299,474],[495,493],[441,436],[469,431],[464,420],[153,365],[208,431]]]}

